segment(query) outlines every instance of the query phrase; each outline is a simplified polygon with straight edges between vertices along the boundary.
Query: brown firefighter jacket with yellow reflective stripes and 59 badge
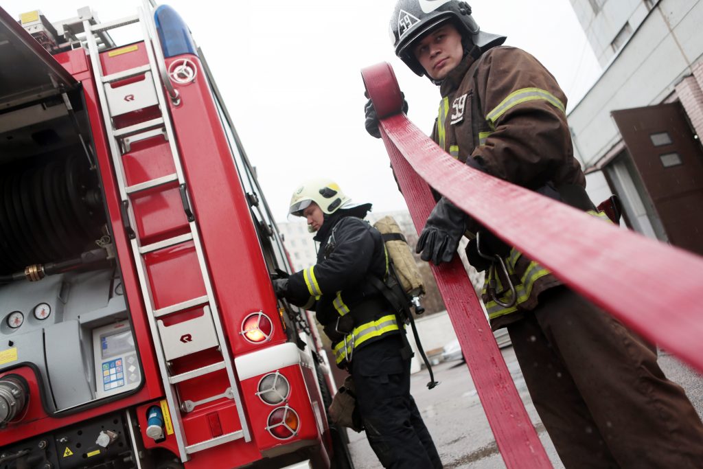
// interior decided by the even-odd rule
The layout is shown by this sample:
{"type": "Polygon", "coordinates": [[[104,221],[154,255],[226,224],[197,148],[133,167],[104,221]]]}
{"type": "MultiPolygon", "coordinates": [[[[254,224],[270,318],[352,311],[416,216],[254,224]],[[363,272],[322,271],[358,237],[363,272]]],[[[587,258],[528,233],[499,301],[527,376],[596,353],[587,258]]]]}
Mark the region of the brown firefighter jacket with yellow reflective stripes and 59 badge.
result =
{"type": "MultiPolygon", "coordinates": [[[[475,158],[492,176],[531,190],[546,184],[586,186],[574,158],[565,113],[567,98],[555,78],[529,53],[497,46],[482,55],[474,47],[441,82],[442,101],[432,139],[454,158],[475,158]]],[[[479,225],[469,220],[468,231],[479,225]]],[[[500,328],[533,309],[537,295],[560,285],[537,262],[512,248],[506,267],[515,285],[517,303],[502,307],[487,294],[491,279],[503,303],[510,291],[494,266],[486,272],[483,300],[491,326],[500,328]]]]}

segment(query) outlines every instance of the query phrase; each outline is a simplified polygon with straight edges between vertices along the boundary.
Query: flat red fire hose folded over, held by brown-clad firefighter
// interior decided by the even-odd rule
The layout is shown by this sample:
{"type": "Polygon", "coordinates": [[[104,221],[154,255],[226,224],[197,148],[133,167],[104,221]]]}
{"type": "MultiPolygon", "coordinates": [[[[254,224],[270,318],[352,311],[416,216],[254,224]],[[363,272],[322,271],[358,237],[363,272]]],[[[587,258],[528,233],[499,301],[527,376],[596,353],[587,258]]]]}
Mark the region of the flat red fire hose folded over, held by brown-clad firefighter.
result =
{"type": "MultiPolygon", "coordinates": [[[[418,232],[434,207],[429,184],[573,290],[703,371],[703,258],[463,165],[400,113],[390,65],[373,65],[362,76],[418,232]]],[[[505,364],[463,266],[454,259],[432,270],[506,465],[537,467],[532,435],[522,429],[515,439],[510,430],[524,424],[524,408],[508,412],[517,392],[505,383],[505,364]]]]}

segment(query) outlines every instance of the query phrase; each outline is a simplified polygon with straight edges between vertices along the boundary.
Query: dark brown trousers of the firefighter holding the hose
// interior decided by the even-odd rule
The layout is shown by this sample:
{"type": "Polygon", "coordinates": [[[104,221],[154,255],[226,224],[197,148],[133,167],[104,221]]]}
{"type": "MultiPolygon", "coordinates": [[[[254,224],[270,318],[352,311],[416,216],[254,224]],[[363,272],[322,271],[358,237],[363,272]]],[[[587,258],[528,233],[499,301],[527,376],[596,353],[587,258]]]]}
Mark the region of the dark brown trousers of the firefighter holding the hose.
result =
{"type": "Polygon", "coordinates": [[[703,468],[703,425],[656,349],[566,287],[544,295],[508,331],[564,465],[703,468]]]}

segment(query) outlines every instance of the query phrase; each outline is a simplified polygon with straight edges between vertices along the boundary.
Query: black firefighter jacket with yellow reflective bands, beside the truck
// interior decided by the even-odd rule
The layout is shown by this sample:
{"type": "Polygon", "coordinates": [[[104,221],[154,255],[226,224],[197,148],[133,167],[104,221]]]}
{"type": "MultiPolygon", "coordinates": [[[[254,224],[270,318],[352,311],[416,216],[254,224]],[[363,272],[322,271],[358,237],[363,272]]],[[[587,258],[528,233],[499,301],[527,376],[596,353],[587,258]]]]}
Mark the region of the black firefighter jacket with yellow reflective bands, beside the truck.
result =
{"type": "Polygon", "coordinates": [[[387,253],[378,230],[347,210],[325,217],[314,239],[320,242],[317,264],[290,276],[287,296],[316,311],[337,366],[345,368],[355,349],[400,331],[391,307],[367,280],[385,277],[387,253]]]}

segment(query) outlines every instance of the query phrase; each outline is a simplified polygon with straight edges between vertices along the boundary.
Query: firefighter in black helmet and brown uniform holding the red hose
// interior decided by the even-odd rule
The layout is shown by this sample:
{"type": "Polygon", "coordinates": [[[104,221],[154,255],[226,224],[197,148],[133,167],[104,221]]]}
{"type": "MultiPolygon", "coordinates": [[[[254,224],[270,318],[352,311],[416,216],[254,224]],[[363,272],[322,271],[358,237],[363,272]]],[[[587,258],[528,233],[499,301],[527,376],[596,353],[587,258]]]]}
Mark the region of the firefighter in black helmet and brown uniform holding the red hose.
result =
{"type": "MultiPolygon", "coordinates": [[[[573,155],[566,96],[536,58],[480,30],[463,1],[399,0],[390,28],[396,55],[439,86],[432,139],[441,148],[475,169],[601,215],[573,155]]],[[[378,136],[370,102],[366,128],[378,136]]],[[[417,250],[434,264],[448,262],[466,232],[467,257],[486,271],[482,299],[491,327],[508,328],[567,468],[703,467],[703,425],[659,369],[655,347],[445,198],[417,250]],[[501,263],[508,275],[496,269],[501,263]]]]}

